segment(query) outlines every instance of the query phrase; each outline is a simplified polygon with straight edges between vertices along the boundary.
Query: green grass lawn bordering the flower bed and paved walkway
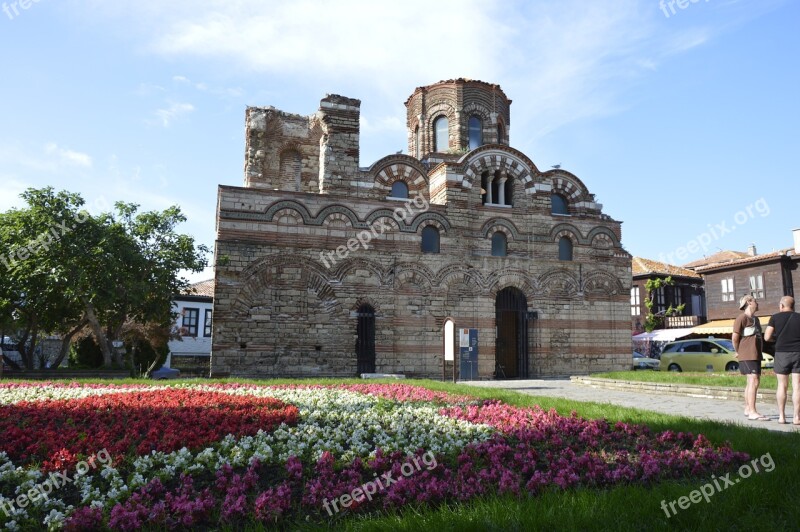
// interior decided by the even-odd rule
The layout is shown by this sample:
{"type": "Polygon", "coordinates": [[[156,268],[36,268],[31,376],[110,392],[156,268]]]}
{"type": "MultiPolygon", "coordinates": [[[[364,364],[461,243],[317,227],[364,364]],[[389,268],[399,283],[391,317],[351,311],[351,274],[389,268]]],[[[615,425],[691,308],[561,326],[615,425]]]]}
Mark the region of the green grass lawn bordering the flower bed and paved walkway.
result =
{"type": "MultiPolygon", "coordinates": [[[[668,374],[658,372],[622,372],[608,374],[614,378],[641,376],[643,380],[695,377],[710,378],[706,374],[668,374]]],[[[736,379],[735,376],[719,376],[736,379]]],[[[773,378],[774,380],[774,378],[773,378]]],[[[225,380],[223,382],[229,382],[225,380]]],[[[93,381],[98,382],[98,381],[93,381]]],[[[108,381],[100,381],[107,383],[108,381]]],[[[115,383],[118,381],[114,381],[115,383]]],[[[141,380],[122,381],[144,383],[141,380]]],[[[164,383],[164,381],[161,381],[164,383]]],[[[167,381],[170,384],[177,381],[167,381]]],[[[198,382],[196,380],[183,382],[198,382]]],[[[218,381],[217,381],[218,382],[218,381]]],[[[241,381],[240,381],[241,382],[241,381]]],[[[248,381],[260,384],[277,383],[341,383],[365,382],[361,380],[313,379],[248,381]]],[[[398,382],[398,381],[370,381],[398,382]]],[[[736,451],[750,454],[751,459],[761,459],[762,471],[749,478],[739,478],[731,471],[735,483],[710,496],[710,503],[701,500],[686,509],[677,508],[677,514],[667,517],[662,501],[667,505],[680,497],[689,497],[704,485],[711,486],[712,478],[661,482],[651,486],[624,485],[613,489],[579,489],[561,491],[553,489],[532,498],[489,497],[467,504],[452,503],[437,508],[411,508],[402,513],[382,516],[342,516],[325,529],[329,530],[407,530],[423,532],[435,530],[793,530],[800,523],[800,507],[793,502],[791,486],[798,485],[798,449],[800,431],[793,433],[770,432],[765,429],[745,428],[712,421],[676,417],[623,407],[581,403],[553,398],[529,396],[517,392],[476,388],[427,380],[400,381],[425,386],[434,390],[501,399],[518,406],[541,405],[555,408],[562,414],[572,411],[587,418],[605,417],[629,423],[643,423],[653,431],[689,431],[702,433],[712,442],[730,442],[736,451]],[[763,471],[774,464],[771,472],[763,471]]],[[[671,381],[661,381],[671,382],[671,381]]],[[[685,381],[684,381],[685,382],[685,381]]],[[[732,380],[731,383],[737,381],[732,380]]],[[[728,384],[723,384],[728,385],[728,384]]],[[[739,385],[739,384],[732,384],[739,385]]],[[[724,483],[720,484],[724,486],[724,483]]],[[[688,499],[687,499],[688,501],[688,499]]],[[[317,530],[300,520],[291,526],[297,530],[317,530]]],[[[260,530],[257,525],[247,530],[260,530]]]]}

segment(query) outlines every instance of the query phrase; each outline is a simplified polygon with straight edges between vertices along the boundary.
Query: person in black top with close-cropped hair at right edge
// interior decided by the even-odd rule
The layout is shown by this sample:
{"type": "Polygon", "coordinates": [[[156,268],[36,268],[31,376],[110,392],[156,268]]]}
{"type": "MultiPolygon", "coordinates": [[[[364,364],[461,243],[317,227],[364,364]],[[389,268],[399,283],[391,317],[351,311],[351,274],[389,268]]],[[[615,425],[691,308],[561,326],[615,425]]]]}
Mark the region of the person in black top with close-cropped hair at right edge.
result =
{"type": "Polygon", "coordinates": [[[783,296],[780,312],[773,315],[764,331],[764,340],[775,336],[775,375],[778,376],[778,423],[786,423],[786,390],[792,374],[794,425],[800,425],[800,316],[794,311],[794,298],[783,296]]]}

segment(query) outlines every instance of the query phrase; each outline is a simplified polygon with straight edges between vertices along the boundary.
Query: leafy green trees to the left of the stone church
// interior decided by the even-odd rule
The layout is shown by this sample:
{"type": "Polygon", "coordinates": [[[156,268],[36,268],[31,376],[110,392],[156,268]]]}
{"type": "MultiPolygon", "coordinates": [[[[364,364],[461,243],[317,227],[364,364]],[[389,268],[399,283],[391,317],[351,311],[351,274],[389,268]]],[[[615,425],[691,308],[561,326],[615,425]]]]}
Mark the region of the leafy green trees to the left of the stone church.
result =
{"type": "Polygon", "coordinates": [[[208,248],[177,231],[177,206],[140,213],[118,202],[91,215],[80,195],[51,187],[22,198],[25,208],[0,213],[0,329],[16,334],[26,367],[41,335],[64,339],[63,358],[87,326],[104,366],[122,366],[114,343],[126,323],[168,329],[172,297],[188,286],[181,271],[207,264],[208,248]]]}

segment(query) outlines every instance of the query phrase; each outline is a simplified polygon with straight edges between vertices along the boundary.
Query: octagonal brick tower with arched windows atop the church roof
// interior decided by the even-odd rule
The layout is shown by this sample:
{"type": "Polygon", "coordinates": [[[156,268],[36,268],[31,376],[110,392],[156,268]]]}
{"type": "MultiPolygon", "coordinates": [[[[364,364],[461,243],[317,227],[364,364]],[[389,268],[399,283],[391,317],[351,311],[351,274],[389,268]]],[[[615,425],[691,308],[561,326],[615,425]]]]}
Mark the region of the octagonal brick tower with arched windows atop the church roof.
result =
{"type": "Polygon", "coordinates": [[[499,85],[470,79],[418,87],[406,100],[408,153],[461,154],[484,144],[508,144],[511,100],[499,85]]]}

